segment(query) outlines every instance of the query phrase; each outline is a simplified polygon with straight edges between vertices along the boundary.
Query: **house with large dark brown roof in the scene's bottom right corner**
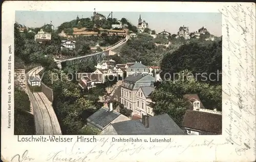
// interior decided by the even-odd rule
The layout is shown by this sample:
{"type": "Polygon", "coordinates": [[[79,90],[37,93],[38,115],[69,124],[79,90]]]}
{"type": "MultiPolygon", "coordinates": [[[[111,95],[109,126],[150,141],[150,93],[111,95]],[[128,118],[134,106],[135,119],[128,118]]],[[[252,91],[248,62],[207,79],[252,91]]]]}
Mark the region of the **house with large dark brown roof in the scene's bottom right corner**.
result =
{"type": "Polygon", "coordinates": [[[191,135],[222,134],[222,115],[203,111],[186,110],[182,129],[191,135]]]}

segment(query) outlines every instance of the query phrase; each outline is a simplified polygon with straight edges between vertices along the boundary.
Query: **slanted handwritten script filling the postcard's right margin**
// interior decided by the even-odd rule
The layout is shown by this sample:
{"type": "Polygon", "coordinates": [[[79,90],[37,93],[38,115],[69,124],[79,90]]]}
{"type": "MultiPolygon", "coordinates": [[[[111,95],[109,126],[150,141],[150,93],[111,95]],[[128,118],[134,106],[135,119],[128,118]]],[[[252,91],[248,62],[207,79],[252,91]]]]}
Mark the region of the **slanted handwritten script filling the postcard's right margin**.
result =
{"type": "MultiPolygon", "coordinates": [[[[225,105],[229,109],[226,141],[235,146],[239,156],[255,155],[255,13],[253,5],[226,6],[219,10],[224,17],[223,74],[225,105]],[[232,34],[230,34],[232,33],[232,34]],[[233,34],[236,33],[236,34],[233,34]],[[227,60],[227,61],[226,61],[227,60]],[[231,60],[231,61],[230,61],[231,60]],[[231,73],[232,71],[232,73],[231,73]]],[[[225,118],[225,117],[224,117],[225,118]]]]}

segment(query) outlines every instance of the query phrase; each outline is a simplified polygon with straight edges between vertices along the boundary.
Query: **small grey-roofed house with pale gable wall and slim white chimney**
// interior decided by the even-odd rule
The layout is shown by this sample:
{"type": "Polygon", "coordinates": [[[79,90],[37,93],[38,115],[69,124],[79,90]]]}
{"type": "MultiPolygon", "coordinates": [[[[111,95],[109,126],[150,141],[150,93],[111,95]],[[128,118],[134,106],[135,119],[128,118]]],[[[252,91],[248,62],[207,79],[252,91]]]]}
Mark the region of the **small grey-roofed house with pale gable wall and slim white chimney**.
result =
{"type": "Polygon", "coordinates": [[[110,124],[131,119],[125,117],[119,112],[114,111],[113,105],[110,103],[110,108],[101,107],[86,120],[88,126],[97,128],[102,131],[110,124]]]}

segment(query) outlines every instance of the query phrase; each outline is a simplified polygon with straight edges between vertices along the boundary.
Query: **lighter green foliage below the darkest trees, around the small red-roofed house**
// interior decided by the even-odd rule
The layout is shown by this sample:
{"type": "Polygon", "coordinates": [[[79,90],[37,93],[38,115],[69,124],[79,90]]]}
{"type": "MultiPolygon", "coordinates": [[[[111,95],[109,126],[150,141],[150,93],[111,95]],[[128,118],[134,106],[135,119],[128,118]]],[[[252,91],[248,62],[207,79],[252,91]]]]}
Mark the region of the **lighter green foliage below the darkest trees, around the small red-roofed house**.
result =
{"type": "Polygon", "coordinates": [[[158,84],[151,94],[154,113],[167,113],[174,121],[181,126],[183,116],[186,110],[186,100],[183,95],[198,94],[204,107],[207,109],[222,110],[221,85],[209,85],[195,80],[195,78],[186,77],[189,71],[185,70],[178,73],[184,75],[184,80],[168,80],[158,84]]]}

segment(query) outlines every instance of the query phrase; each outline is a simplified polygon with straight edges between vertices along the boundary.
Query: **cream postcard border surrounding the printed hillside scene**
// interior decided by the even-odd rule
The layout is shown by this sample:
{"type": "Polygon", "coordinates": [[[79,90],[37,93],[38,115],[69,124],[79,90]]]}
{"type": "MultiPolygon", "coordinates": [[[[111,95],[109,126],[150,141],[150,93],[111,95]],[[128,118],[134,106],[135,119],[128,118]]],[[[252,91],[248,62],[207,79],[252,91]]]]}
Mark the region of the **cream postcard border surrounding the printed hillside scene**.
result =
{"type": "MultiPolygon", "coordinates": [[[[5,1],[2,11],[2,146],[3,161],[19,154],[24,161],[253,161],[255,160],[255,4],[188,2],[32,2],[5,1]],[[108,6],[108,7],[106,7],[108,6]],[[113,136],[95,136],[98,143],[50,143],[17,141],[14,129],[14,31],[15,11],[140,11],[222,12],[223,126],[222,135],[125,135],[122,137],[172,138],[171,143],[112,143],[113,136]],[[244,10],[242,12],[242,9],[244,10]],[[252,12],[252,13],[250,13],[252,12]],[[254,16],[254,17],[253,17],[254,16]],[[252,19],[254,21],[252,22],[252,19]],[[240,21],[241,20],[241,21],[240,21]],[[245,25],[247,24],[247,28],[245,25]],[[240,26],[241,27],[240,27],[240,26]],[[227,30],[228,26],[228,30],[227,30]],[[242,30],[242,28],[244,30],[242,30]],[[229,33],[227,33],[227,31],[229,33]],[[246,38],[246,40],[244,40],[246,38]],[[239,45],[238,45],[239,44],[239,45]],[[11,52],[9,54],[9,46],[11,52]],[[241,54],[240,54],[241,53],[241,54]],[[12,55],[11,61],[8,61],[12,55]],[[253,62],[254,61],[254,62],[253,62]],[[8,84],[11,63],[11,84],[8,84]],[[230,71],[230,73],[229,73],[230,71]],[[240,78],[239,78],[240,77],[240,78]],[[11,91],[11,129],[8,128],[8,92],[11,91]],[[238,101],[240,103],[238,103],[238,101]],[[253,104],[254,103],[254,104],[253,104]],[[253,114],[250,114],[253,112],[253,114]],[[231,122],[231,118],[232,122],[231,122]],[[248,125],[246,122],[248,121],[248,125]],[[231,128],[231,129],[230,129],[231,128]],[[227,131],[230,130],[230,133],[227,131]],[[108,142],[105,140],[109,137],[108,142]],[[229,141],[229,142],[228,142],[229,141]],[[233,142],[232,142],[233,141],[233,142]],[[233,143],[233,144],[231,144],[233,143]],[[241,144],[241,146],[240,146],[241,144]],[[247,147],[247,146],[249,147],[247,147]],[[81,153],[83,152],[83,153],[81,153]],[[29,160],[29,158],[31,158],[29,160]],[[72,161],[72,159],[70,160],[72,161]]],[[[42,135],[43,136],[43,135],[42,135]]],[[[47,136],[47,135],[44,135],[47,136]]],[[[19,137],[26,137],[19,136],[19,137]]],[[[65,135],[65,137],[77,137],[65,135]]],[[[87,136],[84,136],[87,137],[87,136]]],[[[119,136],[114,136],[119,137],[119,136]]],[[[15,156],[12,161],[18,160],[15,156]]]]}

